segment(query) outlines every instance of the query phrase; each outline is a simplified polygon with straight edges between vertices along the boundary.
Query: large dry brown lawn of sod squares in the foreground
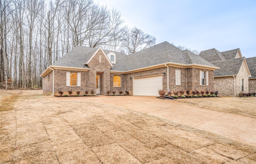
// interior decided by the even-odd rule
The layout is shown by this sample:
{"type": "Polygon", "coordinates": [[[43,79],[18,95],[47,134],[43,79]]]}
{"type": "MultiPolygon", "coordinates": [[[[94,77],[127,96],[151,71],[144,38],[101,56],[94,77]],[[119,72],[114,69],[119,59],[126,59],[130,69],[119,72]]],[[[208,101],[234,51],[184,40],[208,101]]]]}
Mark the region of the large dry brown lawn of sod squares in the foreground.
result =
{"type": "MultiPolygon", "coordinates": [[[[42,91],[0,90],[0,163],[256,163],[256,147],[42,91]]],[[[86,97],[81,97],[81,99],[86,97]]]]}

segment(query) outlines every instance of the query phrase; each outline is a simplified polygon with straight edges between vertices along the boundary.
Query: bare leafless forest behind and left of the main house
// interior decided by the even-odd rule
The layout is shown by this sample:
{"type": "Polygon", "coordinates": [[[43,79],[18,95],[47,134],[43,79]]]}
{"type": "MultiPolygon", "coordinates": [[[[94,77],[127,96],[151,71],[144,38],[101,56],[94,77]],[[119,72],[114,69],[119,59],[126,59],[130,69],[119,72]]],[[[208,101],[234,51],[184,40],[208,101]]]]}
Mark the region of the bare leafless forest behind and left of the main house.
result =
{"type": "Polygon", "coordinates": [[[0,89],[41,87],[40,74],[77,45],[131,54],[156,38],[93,0],[1,0],[0,89]]]}

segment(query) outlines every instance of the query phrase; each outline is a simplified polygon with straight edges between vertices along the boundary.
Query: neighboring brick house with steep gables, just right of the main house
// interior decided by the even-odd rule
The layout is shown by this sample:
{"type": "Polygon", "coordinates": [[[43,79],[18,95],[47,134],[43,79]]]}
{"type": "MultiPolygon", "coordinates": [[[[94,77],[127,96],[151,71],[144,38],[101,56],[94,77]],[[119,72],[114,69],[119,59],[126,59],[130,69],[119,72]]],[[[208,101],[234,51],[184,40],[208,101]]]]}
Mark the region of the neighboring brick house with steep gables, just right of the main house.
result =
{"type": "Polygon", "coordinates": [[[220,67],[214,72],[214,89],[220,96],[238,96],[240,92],[249,91],[250,70],[240,49],[225,52],[209,49],[199,56],[220,67]]]}

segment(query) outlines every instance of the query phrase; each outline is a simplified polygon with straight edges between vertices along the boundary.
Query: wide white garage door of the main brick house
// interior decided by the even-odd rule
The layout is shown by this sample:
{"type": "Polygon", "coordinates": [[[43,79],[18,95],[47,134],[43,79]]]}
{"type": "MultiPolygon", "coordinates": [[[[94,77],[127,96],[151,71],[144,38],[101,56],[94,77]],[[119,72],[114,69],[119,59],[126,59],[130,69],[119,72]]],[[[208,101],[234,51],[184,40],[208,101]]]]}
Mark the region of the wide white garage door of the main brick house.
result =
{"type": "Polygon", "coordinates": [[[134,78],[133,81],[133,95],[159,96],[158,90],[162,90],[162,88],[162,75],[145,78],[134,78]]]}

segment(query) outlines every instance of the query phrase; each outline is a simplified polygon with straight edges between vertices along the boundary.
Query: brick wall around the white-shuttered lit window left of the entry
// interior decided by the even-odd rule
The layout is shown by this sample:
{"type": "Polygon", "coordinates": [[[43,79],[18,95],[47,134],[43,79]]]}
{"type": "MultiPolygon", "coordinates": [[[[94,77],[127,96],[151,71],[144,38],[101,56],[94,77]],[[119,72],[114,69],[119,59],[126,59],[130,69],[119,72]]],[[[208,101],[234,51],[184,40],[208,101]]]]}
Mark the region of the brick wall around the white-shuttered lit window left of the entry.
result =
{"type": "Polygon", "coordinates": [[[90,92],[88,79],[89,79],[88,71],[54,69],[54,96],[58,96],[59,95],[58,92],[60,90],[64,92],[63,95],[68,94],[68,91],[70,90],[73,91],[72,95],[76,95],[77,91],[80,91],[81,95],[84,94],[86,90],[90,92]],[[66,72],[73,72],[73,73],[80,72],[81,86],[66,86],[66,72]]]}

